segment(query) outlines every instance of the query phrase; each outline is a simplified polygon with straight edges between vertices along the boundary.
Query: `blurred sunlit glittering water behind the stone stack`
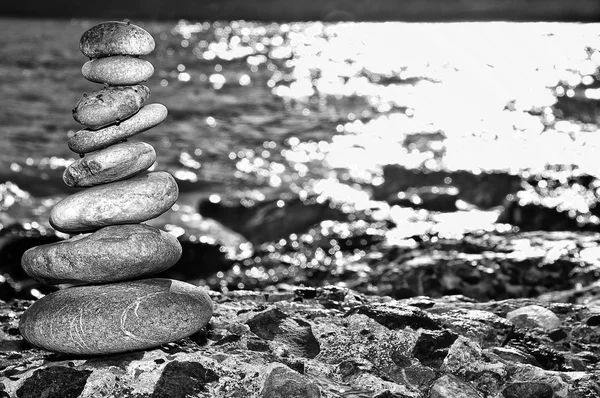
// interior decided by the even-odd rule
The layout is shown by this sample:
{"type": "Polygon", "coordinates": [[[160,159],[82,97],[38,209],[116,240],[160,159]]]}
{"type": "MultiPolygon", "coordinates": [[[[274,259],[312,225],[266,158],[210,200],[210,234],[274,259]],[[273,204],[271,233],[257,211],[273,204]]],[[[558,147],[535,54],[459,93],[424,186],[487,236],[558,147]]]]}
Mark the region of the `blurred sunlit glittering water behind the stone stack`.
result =
{"type": "MultiPolygon", "coordinates": [[[[71,192],[60,180],[78,158],[66,145],[81,128],[71,109],[100,88],[81,76],[78,41],[97,22],[0,20],[4,225],[47,225],[71,192]]],[[[403,225],[389,239],[452,235],[499,228],[498,210],[390,206],[373,196],[384,168],[600,172],[598,24],[133,22],[157,43],[149,102],[170,112],[135,138],[179,181],[178,214],[164,221],[174,233],[218,234],[197,213],[203,198],[251,207],[316,195],[384,212],[403,225]]],[[[417,191],[398,199],[418,205],[417,191]]],[[[554,199],[597,224],[596,196],[570,195],[554,199]]]]}

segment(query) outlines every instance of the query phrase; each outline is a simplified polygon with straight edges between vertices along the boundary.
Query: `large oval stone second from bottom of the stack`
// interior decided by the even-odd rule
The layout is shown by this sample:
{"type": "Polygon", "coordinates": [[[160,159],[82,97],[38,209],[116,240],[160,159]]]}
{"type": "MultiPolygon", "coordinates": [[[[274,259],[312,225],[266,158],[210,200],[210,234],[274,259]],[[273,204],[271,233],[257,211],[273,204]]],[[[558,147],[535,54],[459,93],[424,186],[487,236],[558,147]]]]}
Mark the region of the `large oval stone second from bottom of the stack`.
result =
{"type": "Polygon", "coordinates": [[[145,224],[112,225],[27,250],[21,265],[40,282],[106,283],[164,271],[181,257],[171,234],[145,224]]]}

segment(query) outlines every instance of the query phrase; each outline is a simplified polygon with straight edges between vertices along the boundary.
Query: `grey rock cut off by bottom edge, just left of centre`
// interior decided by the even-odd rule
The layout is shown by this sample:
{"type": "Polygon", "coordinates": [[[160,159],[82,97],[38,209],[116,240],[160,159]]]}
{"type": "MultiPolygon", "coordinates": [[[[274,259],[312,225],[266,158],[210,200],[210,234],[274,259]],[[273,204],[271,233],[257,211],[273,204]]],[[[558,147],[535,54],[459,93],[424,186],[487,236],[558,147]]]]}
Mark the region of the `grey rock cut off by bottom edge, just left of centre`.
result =
{"type": "Polygon", "coordinates": [[[319,387],[310,379],[286,368],[277,367],[269,373],[262,398],[320,398],[319,387]]]}

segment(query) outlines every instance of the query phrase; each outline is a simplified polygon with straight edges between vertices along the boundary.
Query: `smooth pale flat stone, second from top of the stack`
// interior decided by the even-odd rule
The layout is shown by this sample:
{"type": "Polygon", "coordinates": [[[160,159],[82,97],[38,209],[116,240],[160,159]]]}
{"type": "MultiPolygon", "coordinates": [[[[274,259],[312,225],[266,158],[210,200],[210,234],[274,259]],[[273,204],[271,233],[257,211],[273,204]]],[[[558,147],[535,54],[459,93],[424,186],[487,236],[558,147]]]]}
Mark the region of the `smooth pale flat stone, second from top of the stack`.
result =
{"type": "Polygon", "coordinates": [[[83,77],[95,83],[125,86],[144,82],[154,73],[152,64],[128,55],[96,58],[83,64],[83,77]]]}

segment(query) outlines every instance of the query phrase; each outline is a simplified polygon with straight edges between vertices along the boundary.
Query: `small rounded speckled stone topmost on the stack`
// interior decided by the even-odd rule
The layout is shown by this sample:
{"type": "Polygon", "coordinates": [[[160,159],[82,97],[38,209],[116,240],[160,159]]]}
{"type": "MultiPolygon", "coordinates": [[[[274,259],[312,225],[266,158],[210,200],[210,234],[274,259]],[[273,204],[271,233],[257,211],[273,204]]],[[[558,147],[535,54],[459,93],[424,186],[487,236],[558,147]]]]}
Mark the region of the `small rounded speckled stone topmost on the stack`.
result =
{"type": "Polygon", "coordinates": [[[79,49],[89,58],[147,55],[154,50],[154,46],[154,38],[146,30],[118,21],[92,26],[79,41],[79,49]]]}

